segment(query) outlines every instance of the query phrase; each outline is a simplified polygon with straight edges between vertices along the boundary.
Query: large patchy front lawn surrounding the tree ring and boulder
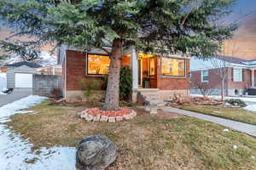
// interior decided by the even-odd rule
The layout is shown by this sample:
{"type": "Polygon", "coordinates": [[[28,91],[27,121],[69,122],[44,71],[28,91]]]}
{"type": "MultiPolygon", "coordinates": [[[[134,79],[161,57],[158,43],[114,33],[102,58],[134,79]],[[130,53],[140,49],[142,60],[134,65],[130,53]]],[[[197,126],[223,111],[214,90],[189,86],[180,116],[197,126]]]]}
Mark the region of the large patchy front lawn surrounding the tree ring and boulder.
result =
{"type": "Polygon", "coordinates": [[[81,105],[49,105],[36,114],[11,116],[15,132],[40,146],[76,146],[84,136],[103,134],[119,147],[119,157],[109,169],[256,169],[256,139],[226,127],[191,117],[160,111],[157,116],[137,110],[127,122],[85,122],[77,116],[81,105]],[[237,149],[232,146],[236,144],[237,149]]]}

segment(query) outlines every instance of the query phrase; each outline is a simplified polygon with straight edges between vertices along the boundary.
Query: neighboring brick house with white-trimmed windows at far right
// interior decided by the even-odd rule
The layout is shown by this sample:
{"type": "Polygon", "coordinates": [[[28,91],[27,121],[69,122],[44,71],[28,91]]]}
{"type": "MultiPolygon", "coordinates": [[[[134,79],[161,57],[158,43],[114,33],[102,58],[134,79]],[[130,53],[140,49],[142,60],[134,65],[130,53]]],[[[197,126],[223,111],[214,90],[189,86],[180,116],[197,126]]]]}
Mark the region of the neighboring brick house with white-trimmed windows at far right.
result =
{"type": "Polygon", "coordinates": [[[200,94],[197,84],[207,83],[210,94],[221,94],[222,79],[218,70],[227,68],[224,80],[225,95],[242,95],[248,88],[255,88],[256,60],[217,56],[213,62],[225,63],[224,66],[213,65],[212,59],[202,60],[193,57],[190,62],[191,94],[200,94]]]}

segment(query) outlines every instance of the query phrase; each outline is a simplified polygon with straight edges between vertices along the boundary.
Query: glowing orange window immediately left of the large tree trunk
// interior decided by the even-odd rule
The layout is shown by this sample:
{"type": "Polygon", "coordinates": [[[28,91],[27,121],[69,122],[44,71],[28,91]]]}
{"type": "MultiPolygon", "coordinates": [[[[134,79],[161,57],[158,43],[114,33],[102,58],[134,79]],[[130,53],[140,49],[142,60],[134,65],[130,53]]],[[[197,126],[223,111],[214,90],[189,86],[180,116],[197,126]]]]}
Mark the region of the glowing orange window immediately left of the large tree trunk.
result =
{"type": "Polygon", "coordinates": [[[108,75],[110,59],[108,55],[87,55],[88,75],[108,75]]]}

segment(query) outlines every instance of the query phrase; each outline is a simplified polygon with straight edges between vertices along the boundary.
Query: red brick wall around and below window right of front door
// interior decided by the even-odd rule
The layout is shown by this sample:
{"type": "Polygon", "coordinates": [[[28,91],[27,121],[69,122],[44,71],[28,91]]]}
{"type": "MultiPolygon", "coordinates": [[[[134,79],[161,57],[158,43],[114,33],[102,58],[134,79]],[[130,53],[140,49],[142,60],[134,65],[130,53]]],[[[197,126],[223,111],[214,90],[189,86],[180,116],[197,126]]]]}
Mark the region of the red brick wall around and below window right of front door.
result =
{"type": "Polygon", "coordinates": [[[189,59],[186,59],[186,77],[163,77],[161,75],[160,57],[157,59],[157,63],[157,88],[160,90],[189,89],[189,59]]]}

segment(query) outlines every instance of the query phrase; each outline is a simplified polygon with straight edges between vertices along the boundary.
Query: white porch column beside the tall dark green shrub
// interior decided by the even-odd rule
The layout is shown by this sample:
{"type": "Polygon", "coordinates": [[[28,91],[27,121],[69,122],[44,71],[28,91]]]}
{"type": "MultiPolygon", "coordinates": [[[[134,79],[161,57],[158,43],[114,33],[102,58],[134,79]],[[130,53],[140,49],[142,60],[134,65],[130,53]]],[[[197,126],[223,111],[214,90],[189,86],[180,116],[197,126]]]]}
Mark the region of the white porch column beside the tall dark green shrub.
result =
{"type": "Polygon", "coordinates": [[[137,102],[137,89],[138,89],[138,63],[136,49],[131,52],[131,71],[132,71],[132,96],[131,101],[137,102]]]}

